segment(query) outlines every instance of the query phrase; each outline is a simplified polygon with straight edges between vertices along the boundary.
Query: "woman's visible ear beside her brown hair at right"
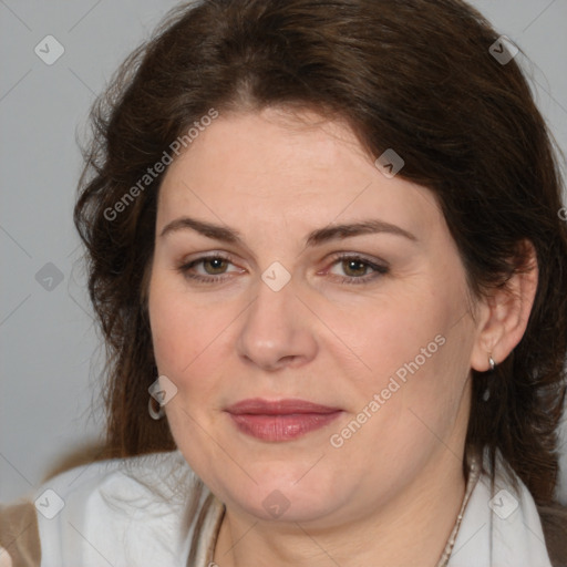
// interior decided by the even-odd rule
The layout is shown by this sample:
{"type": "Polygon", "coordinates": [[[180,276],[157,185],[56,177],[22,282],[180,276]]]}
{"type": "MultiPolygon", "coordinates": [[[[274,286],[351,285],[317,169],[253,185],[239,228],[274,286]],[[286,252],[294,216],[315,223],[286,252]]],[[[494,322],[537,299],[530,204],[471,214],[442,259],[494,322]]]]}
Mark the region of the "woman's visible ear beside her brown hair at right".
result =
{"type": "Polygon", "coordinates": [[[522,340],[537,290],[537,254],[529,240],[523,240],[526,260],[512,276],[506,287],[496,288],[478,306],[476,340],[471,367],[480,372],[489,370],[488,357],[497,363],[506,359],[522,340]]]}

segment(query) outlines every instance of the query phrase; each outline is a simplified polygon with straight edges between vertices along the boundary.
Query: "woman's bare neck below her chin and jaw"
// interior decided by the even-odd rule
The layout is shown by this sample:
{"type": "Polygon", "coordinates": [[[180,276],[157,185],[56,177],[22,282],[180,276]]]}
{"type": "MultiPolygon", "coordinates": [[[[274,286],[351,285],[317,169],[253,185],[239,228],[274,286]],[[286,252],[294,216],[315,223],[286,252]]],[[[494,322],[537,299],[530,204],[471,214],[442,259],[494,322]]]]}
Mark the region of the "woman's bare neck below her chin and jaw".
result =
{"type": "Polygon", "coordinates": [[[462,465],[445,450],[403,494],[357,522],[274,523],[227,508],[214,561],[220,567],[435,567],[464,494],[462,465]]]}

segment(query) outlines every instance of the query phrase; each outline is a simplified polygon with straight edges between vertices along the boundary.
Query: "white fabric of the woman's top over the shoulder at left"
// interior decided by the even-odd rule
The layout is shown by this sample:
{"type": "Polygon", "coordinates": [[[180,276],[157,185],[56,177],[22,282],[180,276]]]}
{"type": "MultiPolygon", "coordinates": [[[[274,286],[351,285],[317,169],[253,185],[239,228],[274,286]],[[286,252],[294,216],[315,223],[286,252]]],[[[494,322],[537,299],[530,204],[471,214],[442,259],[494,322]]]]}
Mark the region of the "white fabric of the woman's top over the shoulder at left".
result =
{"type": "Polygon", "coordinates": [[[37,522],[42,567],[95,566],[101,556],[116,566],[174,566],[190,536],[187,511],[195,515],[207,492],[178,451],[152,453],[59,474],[25,513],[37,522]]]}

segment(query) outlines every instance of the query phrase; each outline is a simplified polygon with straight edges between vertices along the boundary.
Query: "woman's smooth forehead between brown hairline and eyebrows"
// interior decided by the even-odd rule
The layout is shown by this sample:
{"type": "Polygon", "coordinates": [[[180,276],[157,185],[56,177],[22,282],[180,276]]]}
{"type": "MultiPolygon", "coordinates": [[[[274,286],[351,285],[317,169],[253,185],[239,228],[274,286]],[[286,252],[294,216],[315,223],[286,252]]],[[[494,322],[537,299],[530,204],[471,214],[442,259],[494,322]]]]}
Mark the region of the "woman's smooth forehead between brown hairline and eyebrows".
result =
{"type": "Polygon", "coordinates": [[[159,190],[158,225],[189,212],[233,226],[248,216],[301,225],[374,214],[415,231],[440,220],[432,194],[386,178],[346,124],[275,110],[220,114],[173,162],[159,190]]]}

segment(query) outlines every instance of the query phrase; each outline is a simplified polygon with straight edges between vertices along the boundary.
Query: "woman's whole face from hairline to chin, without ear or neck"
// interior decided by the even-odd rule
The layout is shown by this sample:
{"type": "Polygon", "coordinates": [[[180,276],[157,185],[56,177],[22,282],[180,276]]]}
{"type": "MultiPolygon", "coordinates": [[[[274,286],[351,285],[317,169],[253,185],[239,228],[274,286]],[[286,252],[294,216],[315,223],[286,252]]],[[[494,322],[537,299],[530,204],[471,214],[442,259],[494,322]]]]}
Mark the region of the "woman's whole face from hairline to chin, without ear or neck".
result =
{"type": "Polygon", "coordinates": [[[169,166],[148,307],[174,439],[217,497],[343,522],[461,471],[478,333],[433,194],[303,118],[220,114],[169,166]]]}

